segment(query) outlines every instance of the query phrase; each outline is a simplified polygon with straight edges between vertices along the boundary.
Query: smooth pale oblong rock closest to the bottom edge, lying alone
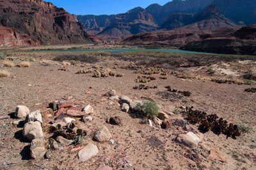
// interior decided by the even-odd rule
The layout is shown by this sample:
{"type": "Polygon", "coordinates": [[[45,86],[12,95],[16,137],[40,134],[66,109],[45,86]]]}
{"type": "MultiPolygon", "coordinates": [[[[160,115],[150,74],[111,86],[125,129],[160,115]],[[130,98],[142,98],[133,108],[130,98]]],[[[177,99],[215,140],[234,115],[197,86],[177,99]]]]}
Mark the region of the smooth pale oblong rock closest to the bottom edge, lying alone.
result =
{"type": "Polygon", "coordinates": [[[87,144],[83,150],[80,150],[78,152],[78,158],[80,161],[84,162],[86,160],[89,160],[90,158],[94,157],[95,155],[97,155],[97,153],[99,152],[97,146],[95,144],[87,144]]]}

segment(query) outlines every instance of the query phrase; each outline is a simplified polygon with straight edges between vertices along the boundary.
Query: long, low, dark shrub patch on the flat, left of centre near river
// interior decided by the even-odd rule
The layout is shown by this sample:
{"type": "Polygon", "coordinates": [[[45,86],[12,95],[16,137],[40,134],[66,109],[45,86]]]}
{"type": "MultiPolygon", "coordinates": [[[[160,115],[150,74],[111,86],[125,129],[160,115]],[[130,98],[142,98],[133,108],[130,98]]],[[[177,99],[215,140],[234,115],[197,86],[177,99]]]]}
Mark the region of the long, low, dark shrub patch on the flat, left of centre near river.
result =
{"type": "Polygon", "coordinates": [[[99,57],[89,56],[86,54],[81,54],[81,55],[67,54],[67,55],[57,56],[53,60],[54,61],[81,61],[81,62],[85,62],[85,63],[97,63],[99,61],[99,57]]]}

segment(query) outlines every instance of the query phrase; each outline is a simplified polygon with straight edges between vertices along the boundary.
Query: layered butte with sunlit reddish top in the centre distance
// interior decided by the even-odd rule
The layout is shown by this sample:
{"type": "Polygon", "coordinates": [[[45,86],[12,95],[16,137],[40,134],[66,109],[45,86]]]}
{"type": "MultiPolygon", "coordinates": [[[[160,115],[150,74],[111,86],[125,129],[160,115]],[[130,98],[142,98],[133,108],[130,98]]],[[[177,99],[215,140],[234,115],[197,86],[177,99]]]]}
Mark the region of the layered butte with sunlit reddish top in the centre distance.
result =
{"type": "Polygon", "coordinates": [[[108,37],[131,36],[157,29],[157,22],[147,10],[137,7],[127,13],[120,13],[111,20],[111,25],[98,35],[108,37]]]}

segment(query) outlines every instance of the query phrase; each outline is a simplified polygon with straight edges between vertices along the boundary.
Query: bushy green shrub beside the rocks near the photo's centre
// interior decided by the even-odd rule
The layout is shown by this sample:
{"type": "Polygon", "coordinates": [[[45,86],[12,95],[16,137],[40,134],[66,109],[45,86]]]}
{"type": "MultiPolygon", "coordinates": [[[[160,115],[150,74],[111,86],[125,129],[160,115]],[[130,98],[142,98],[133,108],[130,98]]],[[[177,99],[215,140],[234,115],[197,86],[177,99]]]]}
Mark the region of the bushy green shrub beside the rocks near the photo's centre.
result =
{"type": "Polygon", "coordinates": [[[154,102],[143,102],[137,104],[139,111],[143,112],[149,118],[156,118],[158,116],[159,106],[154,102]]]}

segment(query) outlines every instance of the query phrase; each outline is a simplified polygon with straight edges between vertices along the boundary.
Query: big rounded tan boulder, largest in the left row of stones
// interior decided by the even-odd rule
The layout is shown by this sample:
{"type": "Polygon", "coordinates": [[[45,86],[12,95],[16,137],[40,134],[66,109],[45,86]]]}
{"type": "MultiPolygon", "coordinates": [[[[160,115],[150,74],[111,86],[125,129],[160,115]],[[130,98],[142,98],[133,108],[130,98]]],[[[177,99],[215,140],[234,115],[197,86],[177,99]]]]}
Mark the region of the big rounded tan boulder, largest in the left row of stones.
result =
{"type": "Polygon", "coordinates": [[[22,134],[30,141],[33,139],[40,139],[44,136],[41,123],[39,121],[29,121],[26,123],[22,130],[22,134]]]}

